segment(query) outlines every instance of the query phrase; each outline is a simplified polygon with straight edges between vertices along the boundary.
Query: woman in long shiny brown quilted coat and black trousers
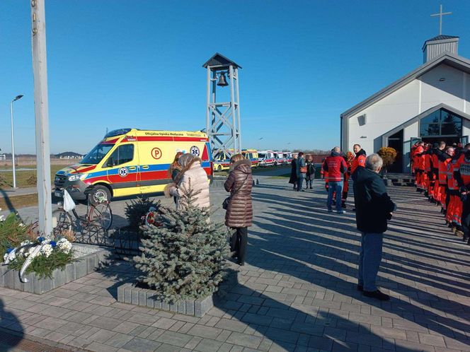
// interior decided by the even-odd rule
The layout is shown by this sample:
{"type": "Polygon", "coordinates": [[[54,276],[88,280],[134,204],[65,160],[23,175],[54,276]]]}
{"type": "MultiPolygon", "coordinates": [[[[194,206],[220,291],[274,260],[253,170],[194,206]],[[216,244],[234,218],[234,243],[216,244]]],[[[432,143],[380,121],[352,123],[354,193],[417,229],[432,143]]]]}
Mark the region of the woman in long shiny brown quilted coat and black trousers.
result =
{"type": "Polygon", "coordinates": [[[231,240],[231,248],[236,252],[239,265],[245,264],[246,245],[248,242],[248,227],[253,221],[253,206],[251,204],[251,161],[235,154],[230,159],[230,173],[224,187],[230,196],[227,201],[225,225],[236,230],[231,240]]]}

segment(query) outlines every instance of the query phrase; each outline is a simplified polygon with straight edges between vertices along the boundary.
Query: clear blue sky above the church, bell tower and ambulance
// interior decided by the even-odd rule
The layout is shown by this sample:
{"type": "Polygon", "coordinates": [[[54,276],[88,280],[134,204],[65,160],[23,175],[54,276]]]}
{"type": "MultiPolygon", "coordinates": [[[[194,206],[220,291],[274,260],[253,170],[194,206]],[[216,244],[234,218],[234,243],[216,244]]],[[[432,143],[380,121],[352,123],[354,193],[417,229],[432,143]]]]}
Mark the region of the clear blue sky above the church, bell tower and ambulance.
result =
{"type": "MultiPolygon", "coordinates": [[[[441,2],[470,57],[470,1],[46,0],[51,151],[85,153],[107,127],[204,128],[214,52],[243,67],[244,148],[329,149],[341,112],[422,64],[441,2]]],[[[7,153],[18,94],[16,151],[35,152],[30,40],[30,1],[1,0],[7,153]]]]}

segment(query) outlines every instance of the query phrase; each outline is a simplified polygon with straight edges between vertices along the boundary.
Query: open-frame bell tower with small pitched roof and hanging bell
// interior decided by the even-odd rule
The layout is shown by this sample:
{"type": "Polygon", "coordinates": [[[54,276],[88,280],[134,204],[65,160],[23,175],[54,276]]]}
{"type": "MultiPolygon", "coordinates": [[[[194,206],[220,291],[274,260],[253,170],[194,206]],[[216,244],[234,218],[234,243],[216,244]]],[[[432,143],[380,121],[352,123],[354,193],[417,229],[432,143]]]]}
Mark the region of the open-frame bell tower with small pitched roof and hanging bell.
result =
{"type": "Polygon", "coordinates": [[[211,150],[232,156],[241,152],[239,69],[215,53],[202,65],[207,69],[206,131],[211,150]]]}

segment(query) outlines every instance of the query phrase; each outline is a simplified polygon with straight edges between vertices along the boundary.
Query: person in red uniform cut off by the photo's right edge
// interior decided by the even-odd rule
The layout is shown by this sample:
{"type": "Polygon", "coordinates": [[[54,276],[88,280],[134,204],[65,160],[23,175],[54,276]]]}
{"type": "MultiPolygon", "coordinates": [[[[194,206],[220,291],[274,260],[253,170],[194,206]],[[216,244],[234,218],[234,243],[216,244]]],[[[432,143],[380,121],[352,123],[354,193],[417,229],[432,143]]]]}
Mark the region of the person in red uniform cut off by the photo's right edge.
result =
{"type": "Polygon", "coordinates": [[[462,199],[462,230],[464,242],[470,245],[470,143],[466,144],[465,151],[454,165],[454,177],[459,184],[462,199]]]}

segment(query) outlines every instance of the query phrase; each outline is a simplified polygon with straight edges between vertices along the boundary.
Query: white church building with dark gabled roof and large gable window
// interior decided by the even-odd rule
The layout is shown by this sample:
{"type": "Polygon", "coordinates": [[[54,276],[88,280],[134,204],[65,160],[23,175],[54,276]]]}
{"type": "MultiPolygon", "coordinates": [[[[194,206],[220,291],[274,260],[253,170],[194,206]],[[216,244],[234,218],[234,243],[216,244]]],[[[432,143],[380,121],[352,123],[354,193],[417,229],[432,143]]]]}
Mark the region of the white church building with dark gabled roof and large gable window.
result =
{"type": "Polygon", "coordinates": [[[457,54],[459,37],[438,35],[423,45],[424,63],[341,114],[341,149],[367,153],[391,146],[391,172],[409,172],[416,140],[467,143],[470,135],[470,60],[457,54]]]}

